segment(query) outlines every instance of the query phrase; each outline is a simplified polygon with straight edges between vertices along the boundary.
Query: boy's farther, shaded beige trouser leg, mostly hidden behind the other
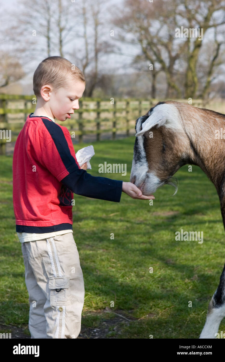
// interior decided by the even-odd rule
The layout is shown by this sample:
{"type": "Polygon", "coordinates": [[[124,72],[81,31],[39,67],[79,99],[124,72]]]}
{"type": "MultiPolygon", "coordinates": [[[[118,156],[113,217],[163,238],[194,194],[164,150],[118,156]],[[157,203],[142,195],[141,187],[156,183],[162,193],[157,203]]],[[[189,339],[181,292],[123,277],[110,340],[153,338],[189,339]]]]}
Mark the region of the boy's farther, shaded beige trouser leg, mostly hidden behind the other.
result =
{"type": "Polygon", "coordinates": [[[21,248],[25,266],[25,283],[29,294],[29,331],[31,338],[47,338],[46,317],[44,315],[46,296],[36,282],[33,270],[28,261],[25,243],[21,243],[21,248]]]}

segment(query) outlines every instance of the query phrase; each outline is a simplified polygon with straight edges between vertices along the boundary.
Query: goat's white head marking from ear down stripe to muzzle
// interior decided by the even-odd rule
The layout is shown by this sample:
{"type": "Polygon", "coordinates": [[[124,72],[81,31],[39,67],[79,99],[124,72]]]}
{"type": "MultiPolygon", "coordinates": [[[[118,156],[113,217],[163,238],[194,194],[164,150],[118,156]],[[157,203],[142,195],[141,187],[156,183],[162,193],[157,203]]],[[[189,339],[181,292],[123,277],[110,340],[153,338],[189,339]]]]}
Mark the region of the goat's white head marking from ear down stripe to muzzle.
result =
{"type": "Polygon", "coordinates": [[[176,106],[171,104],[159,104],[148,112],[148,115],[139,117],[136,124],[136,140],[134,144],[134,157],[130,174],[130,182],[142,190],[144,195],[151,195],[164,182],[157,177],[155,170],[149,170],[146,152],[144,149],[143,134],[154,126],[165,126],[173,131],[183,131],[179,120],[179,112],[176,106]],[[141,129],[142,126],[142,130],[141,129]],[[144,183],[143,183],[144,182],[144,183]],[[142,185],[143,184],[143,185],[142,185]]]}

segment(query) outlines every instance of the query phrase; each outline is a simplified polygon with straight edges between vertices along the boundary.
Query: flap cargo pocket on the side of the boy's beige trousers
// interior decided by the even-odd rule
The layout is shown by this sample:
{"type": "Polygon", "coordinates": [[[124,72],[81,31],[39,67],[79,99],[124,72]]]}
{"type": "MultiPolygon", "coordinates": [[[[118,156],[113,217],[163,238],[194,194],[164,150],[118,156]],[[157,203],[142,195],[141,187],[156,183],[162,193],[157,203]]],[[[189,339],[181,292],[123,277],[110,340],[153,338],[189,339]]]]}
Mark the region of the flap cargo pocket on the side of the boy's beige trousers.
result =
{"type": "Polygon", "coordinates": [[[48,287],[50,289],[51,306],[68,306],[71,304],[69,281],[70,278],[68,275],[49,278],[48,287]]]}

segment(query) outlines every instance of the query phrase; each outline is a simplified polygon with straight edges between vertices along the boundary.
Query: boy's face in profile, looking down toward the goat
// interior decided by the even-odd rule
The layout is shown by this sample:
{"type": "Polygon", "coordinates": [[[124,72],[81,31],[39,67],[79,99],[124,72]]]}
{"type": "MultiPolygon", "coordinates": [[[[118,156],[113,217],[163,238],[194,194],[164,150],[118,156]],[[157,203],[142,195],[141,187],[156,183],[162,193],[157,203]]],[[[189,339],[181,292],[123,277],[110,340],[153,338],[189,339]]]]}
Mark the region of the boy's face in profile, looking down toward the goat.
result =
{"type": "Polygon", "coordinates": [[[85,83],[82,81],[69,80],[66,86],[53,90],[50,93],[48,106],[54,118],[65,121],[74,113],[74,109],[79,109],[78,100],[85,90],[85,83]]]}

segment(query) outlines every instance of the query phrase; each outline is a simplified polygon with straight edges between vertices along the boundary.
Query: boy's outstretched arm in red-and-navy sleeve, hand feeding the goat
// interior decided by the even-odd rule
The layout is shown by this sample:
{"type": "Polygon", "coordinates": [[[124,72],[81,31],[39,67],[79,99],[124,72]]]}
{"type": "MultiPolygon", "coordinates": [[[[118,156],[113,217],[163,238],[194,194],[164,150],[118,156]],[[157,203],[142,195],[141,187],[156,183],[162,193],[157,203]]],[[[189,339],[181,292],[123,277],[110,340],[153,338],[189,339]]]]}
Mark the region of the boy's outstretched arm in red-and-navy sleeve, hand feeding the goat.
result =
{"type": "MultiPolygon", "coordinates": [[[[132,198],[150,199],[131,182],[92,176],[82,169],[66,127],[42,118],[43,126],[36,128],[33,135],[34,159],[75,194],[107,201],[120,202],[122,191],[132,198]]],[[[154,198],[154,197],[153,197],[154,198]]]]}

